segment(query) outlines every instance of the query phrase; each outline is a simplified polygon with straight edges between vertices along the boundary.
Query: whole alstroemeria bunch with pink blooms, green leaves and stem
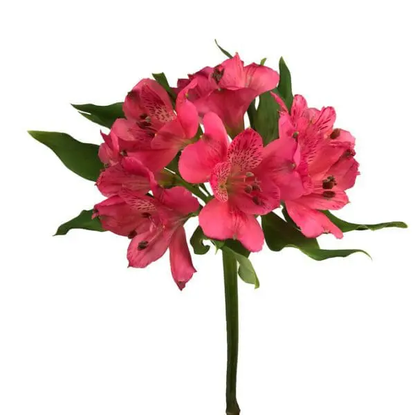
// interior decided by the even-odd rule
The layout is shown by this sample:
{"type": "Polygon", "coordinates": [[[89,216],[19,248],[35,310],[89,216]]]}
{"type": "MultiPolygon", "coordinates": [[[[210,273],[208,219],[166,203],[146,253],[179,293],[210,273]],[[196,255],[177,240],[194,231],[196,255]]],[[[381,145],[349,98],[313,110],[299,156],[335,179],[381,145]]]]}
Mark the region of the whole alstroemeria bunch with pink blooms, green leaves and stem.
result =
{"type": "Polygon", "coordinates": [[[73,105],[109,129],[99,147],[65,133],[29,133],[66,167],[96,182],[106,198],[57,234],[82,228],[127,237],[134,268],[169,250],[172,277],[183,290],[196,272],[184,225],[199,216],[190,237],[194,253],[206,254],[210,242],[223,255],[226,412],[236,415],[238,275],[259,286],[250,253],[265,241],[270,250],[295,247],[317,261],[347,257],[364,251],[320,249],[316,238],[406,225],[359,225],[331,213],[349,203],[346,191],[359,174],[355,138],[335,127],[333,107],[311,108],[293,95],[283,59],[278,73],[265,59],[244,65],[238,54],[221,50],[228,59],[178,80],[175,88],[158,73],[138,82],[124,102],[73,105]]]}

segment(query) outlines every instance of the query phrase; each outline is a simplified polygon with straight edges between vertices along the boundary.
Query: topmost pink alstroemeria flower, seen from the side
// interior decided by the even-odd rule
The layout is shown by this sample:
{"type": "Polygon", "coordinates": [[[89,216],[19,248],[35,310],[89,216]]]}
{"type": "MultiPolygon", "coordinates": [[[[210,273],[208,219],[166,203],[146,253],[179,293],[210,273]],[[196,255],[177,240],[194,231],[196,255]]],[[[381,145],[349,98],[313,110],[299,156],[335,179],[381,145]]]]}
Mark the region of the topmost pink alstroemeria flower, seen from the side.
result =
{"type": "Polygon", "coordinates": [[[275,88],[279,81],[278,73],[267,66],[243,66],[238,54],[214,68],[207,66],[189,78],[178,80],[176,91],[189,88],[196,80],[197,84],[189,90],[190,101],[201,116],[210,111],[216,113],[231,136],[243,130],[243,115],[249,104],[261,93],[275,88]]]}

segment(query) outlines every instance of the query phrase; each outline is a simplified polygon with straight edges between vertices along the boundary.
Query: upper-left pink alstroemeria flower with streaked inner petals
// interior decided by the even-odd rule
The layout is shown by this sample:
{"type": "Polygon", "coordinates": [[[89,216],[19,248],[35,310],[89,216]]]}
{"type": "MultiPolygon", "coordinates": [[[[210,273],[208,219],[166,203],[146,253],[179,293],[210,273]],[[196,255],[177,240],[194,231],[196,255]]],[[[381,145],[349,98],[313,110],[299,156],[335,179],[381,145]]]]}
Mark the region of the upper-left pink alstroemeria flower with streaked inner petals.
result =
{"type": "MultiPolygon", "coordinates": [[[[196,81],[189,84],[193,88],[196,81]]],[[[187,100],[187,89],[178,94],[176,112],[169,95],[158,82],[141,80],[124,101],[124,114],[111,127],[100,149],[104,163],[120,156],[137,158],[152,172],[163,169],[195,136],[199,127],[196,107],[187,100]]]]}

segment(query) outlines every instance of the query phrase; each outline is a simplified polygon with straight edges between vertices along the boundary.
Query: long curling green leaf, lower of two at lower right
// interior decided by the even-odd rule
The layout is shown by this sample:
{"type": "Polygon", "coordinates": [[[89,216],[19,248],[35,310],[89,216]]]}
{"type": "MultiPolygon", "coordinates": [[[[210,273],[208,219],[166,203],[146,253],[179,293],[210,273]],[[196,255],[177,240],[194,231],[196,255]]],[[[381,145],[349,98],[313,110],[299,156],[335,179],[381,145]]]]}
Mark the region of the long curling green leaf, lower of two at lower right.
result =
{"type": "Polygon", "coordinates": [[[317,239],[304,237],[302,232],[284,221],[274,212],[261,216],[262,229],[264,230],[265,241],[268,248],[273,251],[280,251],[286,247],[293,247],[301,250],[304,254],[322,261],[334,257],[348,257],[355,252],[362,252],[368,257],[370,255],[360,249],[328,250],[320,249],[317,239]]]}

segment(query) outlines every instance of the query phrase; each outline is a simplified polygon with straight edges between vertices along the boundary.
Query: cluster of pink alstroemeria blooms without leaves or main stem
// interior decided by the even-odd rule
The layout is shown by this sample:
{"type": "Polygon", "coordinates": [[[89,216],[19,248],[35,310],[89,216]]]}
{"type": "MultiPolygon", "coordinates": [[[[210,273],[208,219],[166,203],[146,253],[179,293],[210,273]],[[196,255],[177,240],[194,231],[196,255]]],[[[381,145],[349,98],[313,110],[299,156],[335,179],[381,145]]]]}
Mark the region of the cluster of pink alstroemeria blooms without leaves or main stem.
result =
{"type": "Polygon", "coordinates": [[[282,203],[306,237],[342,237],[322,211],[349,201],[345,190],[358,175],[354,138],[333,126],[332,107],[309,108],[301,95],[287,107],[278,83],[273,69],[244,66],[235,55],[178,80],[175,89],[144,79],[127,94],[125,118],[102,133],[105,168],[97,185],[107,199],[94,214],[105,230],[131,239],[130,266],[145,267],[169,248],[172,275],[182,289],[195,272],[183,228],[187,219],[199,215],[206,237],[237,239],[257,252],[264,245],[257,216],[282,203]],[[268,91],[279,138],[264,145],[255,126],[245,129],[244,116],[268,91]]]}

